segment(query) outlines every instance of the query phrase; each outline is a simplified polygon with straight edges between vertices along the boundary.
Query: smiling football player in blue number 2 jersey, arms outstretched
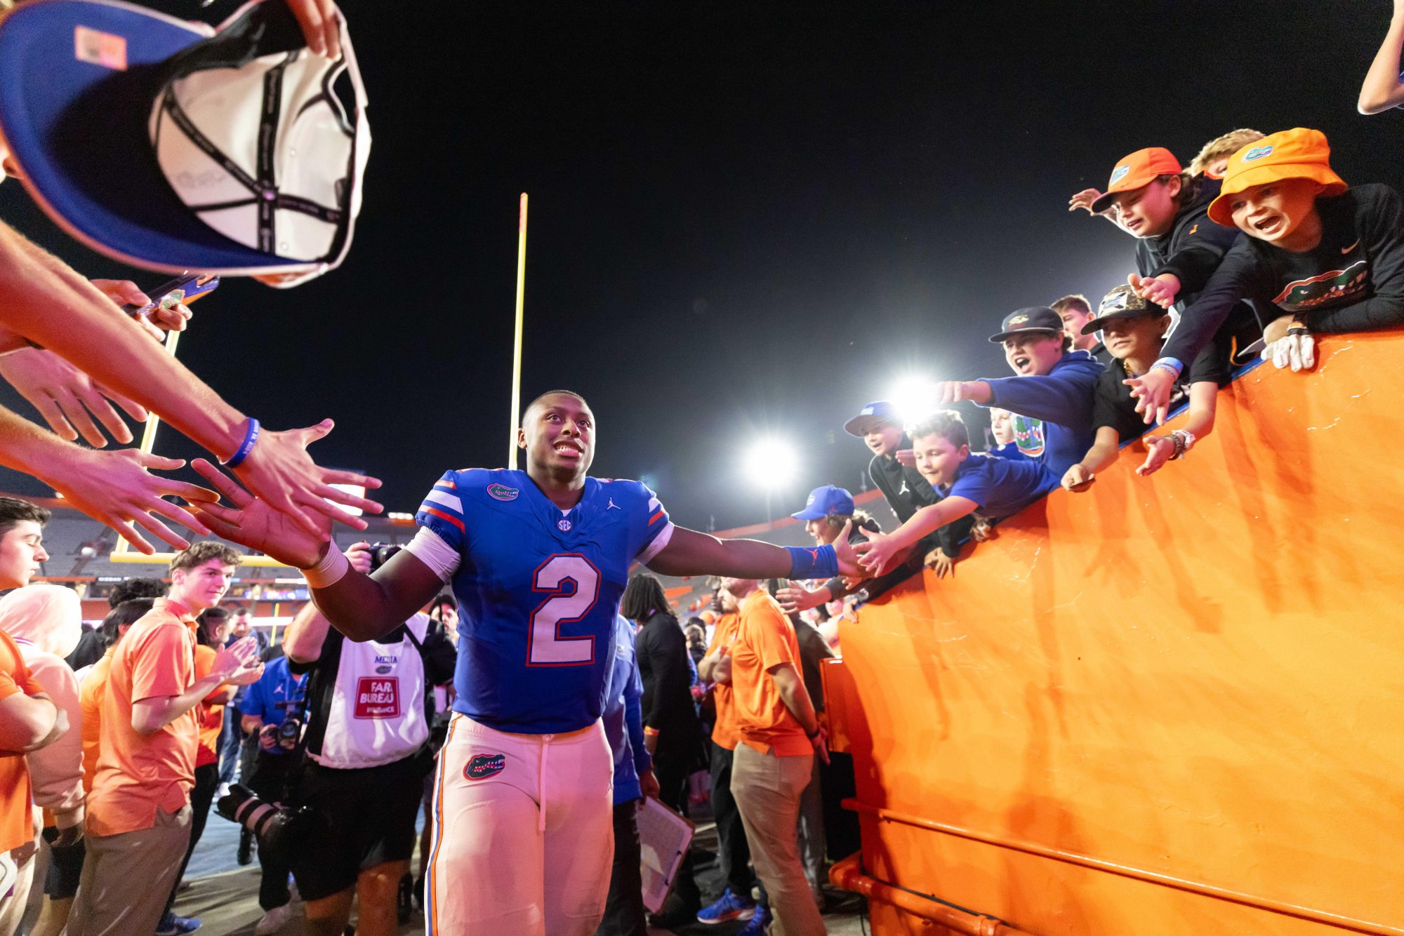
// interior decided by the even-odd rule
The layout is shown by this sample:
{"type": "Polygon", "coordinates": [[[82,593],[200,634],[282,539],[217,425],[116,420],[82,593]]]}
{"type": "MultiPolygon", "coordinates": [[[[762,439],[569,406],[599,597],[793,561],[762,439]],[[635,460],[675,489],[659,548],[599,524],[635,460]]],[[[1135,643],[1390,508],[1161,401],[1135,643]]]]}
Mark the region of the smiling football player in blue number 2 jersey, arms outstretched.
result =
{"type": "MultiPolygon", "coordinates": [[[[664,575],[865,577],[847,530],[816,549],[720,540],[674,526],[637,481],[588,477],[595,420],[577,393],[536,397],[517,443],[525,472],[446,472],[416,515],[413,542],[372,575],[197,462],[233,504],[198,505],[202,519],[303,570],[317,606],[351,640],[389,633],[452,584],[458,699],[425,881],[428,932],[445,936],[595,932],[614,853],[600,714],[635,561],[664,575]]],[[[817,721],[804,731],[824,747],[817,721]]]]}

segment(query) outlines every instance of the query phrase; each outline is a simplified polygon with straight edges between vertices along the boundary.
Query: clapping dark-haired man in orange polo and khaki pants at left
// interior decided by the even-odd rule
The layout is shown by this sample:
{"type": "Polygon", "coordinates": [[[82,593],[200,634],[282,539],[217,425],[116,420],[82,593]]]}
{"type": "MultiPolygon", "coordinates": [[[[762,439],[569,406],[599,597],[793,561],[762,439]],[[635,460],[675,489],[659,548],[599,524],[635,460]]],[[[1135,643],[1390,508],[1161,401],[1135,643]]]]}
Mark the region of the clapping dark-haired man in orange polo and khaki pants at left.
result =
{"type": "Polygon", "coordinates": [[[177,553],[170,596],[157,598],[112,654],[69,936],[164,932],[157,923],[190,842],[195,707],[220,683],[246,685],[263,671],[253,640],[241,640],[195,676],[195,615],[219,603],[237,563],[239,553],[215,542],[177,553]]]}

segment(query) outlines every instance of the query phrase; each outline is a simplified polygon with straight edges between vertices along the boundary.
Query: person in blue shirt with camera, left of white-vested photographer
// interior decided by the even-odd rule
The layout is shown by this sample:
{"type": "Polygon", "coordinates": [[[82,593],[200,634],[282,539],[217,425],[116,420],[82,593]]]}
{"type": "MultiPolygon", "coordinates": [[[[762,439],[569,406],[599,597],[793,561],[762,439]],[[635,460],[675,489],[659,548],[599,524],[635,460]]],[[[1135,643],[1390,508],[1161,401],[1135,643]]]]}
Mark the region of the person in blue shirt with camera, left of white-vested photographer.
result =
{"type": "MultiPolygon", "coordinates": [[[[258,738],[258,752],[244,784],[268,803],[288,801],[288,780],[300,761],[298,744],[302,738],[305,688],[306,678],[289,669],[286,657],[279,657],[264,668],[258,682],[249,686],[241,703],[240,727],[244,734],[258,738]]],[[[264,936],[277,933],[292,916],[292,894],[288,892],[292,869],[277,849],[258,849],[258,864],[263,869],[258,907],[264,915],[254,933],[264,936]]]]}

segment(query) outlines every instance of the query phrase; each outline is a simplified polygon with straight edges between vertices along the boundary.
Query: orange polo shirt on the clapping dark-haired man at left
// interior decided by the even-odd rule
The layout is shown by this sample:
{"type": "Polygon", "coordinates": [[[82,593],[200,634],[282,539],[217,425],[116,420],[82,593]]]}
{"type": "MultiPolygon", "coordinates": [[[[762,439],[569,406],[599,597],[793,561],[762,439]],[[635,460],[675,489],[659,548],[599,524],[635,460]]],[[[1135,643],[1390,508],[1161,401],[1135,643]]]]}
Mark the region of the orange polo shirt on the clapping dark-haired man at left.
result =
{"type": "Polygon", "coordinates": [[[97,776],[87,800],[88,832],[149,829],[157,808],[176,813],[190,803],[199,745],[198,706],[149,735],[132,727],[132,706],[183,695],[194,682],[195,619],[171,599],[157,598],[112,654],[97,776]]]}

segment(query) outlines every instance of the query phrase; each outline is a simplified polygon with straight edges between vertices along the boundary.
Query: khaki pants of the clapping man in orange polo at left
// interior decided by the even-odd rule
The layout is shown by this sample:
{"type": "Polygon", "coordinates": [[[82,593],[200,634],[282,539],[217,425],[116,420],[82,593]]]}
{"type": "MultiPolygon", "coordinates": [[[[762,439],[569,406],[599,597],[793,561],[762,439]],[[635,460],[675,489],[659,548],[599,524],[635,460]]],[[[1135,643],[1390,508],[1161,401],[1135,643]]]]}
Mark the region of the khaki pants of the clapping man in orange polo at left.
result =
{"type": "Polygon", "coordinates": [[[153,933],[166,912],[185,846],[191,808],[156,810],[149,829],[87,835],[87,856],[66,936],[153,933]]]}

